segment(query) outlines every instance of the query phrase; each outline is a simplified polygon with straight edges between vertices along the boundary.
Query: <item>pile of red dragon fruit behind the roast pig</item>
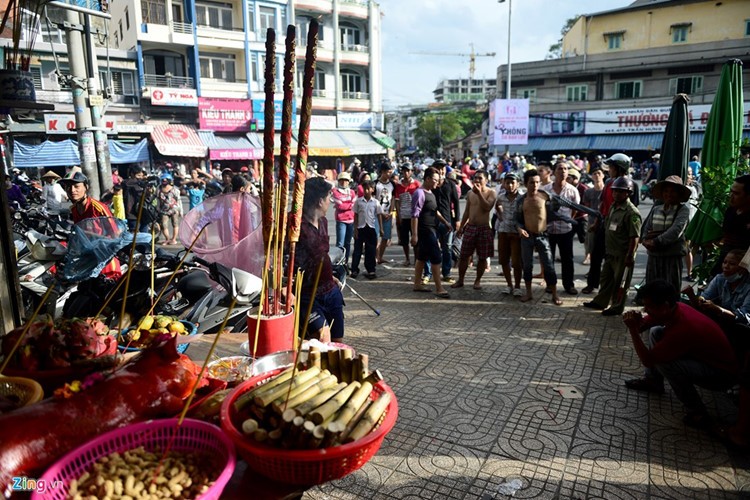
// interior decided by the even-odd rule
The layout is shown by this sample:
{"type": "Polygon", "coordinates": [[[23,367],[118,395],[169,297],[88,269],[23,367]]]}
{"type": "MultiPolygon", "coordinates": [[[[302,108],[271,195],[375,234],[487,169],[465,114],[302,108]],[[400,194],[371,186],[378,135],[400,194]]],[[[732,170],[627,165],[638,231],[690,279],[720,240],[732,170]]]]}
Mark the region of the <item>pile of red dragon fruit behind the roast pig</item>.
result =
{"type": "MultiPolygon", "coordinates": [[[[24,327],[3,337],[3,356],[11,352],[24,327]]],[[[9,367],[27,371],[67,368],[76,363],[114,354],[117,345],[109,328],[97,318],[35,321],[21,340],[9,367]]]]}

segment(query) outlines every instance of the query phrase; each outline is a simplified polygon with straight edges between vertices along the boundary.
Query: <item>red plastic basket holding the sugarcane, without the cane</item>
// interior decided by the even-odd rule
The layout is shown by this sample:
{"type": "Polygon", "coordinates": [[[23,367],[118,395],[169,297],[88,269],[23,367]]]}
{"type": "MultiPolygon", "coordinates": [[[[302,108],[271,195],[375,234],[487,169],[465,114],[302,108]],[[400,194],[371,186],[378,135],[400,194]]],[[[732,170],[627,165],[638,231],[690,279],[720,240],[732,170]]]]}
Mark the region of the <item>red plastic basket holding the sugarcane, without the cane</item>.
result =
{"type": "Polygon", "coordinates": [[[285,450],[260,444],[246,438],[236,425],[234,402],[237,398],[268,380],[282,370],[258,375],[243,382],[227,396],[221,406],[221,428],[231,438],[240,456],[256,472],[290,484],[312,486],[346,476],[362,467],[380,449],[386,434],[390,432],[398,417],[396,395],[385,382],[379,382],[371,397],[383,392],[391,395],[386,414],[380,425],[367,436],[341,446],[320,450],[285,450]]]}

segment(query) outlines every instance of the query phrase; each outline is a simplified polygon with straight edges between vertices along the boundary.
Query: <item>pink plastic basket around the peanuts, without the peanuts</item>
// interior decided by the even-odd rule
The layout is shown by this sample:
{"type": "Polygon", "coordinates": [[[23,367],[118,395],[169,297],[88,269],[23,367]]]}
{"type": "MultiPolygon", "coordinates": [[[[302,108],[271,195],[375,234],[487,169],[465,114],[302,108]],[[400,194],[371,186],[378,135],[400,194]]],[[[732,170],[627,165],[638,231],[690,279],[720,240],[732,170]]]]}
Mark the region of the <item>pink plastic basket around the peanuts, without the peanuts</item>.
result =
{"type": "MultiPolygon", "coordinates": [[[[176,418],[149,420],[128,425],[92,439],[58,460],[40,478],[50,485],[49,491],[34,492],[32,500],[64,500],[73,479],[81,477],[99,458],[114,452],[123,452],[143,446],[146,450],[164,449],[175,435],[176,418]],[[59,481],[56,483],[55,481],[59,481]],[[52,485],[59,485],[52,487],[52,485]]],[[[201,500],[216,499],[229,482],[237,462],[232,441],[218,427],[199,420],[185,419],[180,426],[171,448],[181,452],[207,452],[216,461],[224,463],[224,470],[201,500]]]]}

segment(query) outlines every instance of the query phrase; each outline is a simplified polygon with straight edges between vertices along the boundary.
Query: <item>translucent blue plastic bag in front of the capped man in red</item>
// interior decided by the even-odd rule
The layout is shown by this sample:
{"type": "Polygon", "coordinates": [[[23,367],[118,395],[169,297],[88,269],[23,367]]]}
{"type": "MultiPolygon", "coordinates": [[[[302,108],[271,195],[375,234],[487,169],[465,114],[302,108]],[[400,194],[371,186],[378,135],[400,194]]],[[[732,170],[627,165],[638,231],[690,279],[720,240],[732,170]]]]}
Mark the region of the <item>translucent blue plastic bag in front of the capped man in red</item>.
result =
{"type": "MultiPolygon", "coordinates": [[[[138,243],[150,243],[151,235],[138,233],[138,243]]],[[[84,219],[72,228],[63,277],[68,281],[95,278],[121,249],[133,242],[125,221],[114,217],[84,219]]]]}

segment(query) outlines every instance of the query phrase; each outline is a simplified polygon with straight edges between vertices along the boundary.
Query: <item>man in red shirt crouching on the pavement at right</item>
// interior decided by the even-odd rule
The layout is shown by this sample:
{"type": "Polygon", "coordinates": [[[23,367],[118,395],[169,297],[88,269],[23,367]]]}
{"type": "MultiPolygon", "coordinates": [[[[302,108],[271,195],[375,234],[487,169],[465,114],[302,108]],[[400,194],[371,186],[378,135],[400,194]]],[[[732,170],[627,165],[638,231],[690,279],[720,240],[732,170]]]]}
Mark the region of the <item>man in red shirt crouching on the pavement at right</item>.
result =
{"type": "Polygon", "coordinates": [[[678,302],[677,290],[664,280],[645,284],[638,297],[648,315],[628,311],[622,320],[646,373],[625,386],[661,394],[666,378],[685,405],[683,422],[708,428],[711,418],[695,386],[725,390],[737,382],[739,367],[727,337],[708,316],[678,302]],[[648,346],[641,339],[643,331],[649,332],[648,346]]]}

